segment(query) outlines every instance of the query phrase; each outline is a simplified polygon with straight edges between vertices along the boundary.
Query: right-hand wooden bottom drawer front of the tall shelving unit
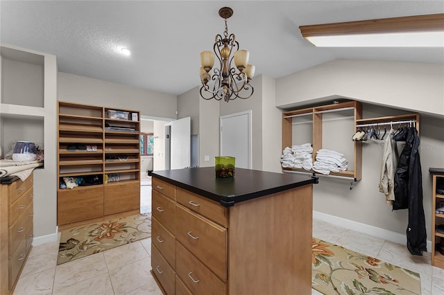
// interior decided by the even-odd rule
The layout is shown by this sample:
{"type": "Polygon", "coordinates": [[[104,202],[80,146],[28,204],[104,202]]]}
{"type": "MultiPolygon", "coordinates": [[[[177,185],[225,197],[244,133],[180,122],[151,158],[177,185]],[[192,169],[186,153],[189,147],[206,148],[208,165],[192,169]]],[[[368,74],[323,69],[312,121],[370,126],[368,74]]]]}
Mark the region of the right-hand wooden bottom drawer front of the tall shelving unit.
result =
{"type": "Polygon", "coordinates": [[[139,181],[123,184],[105,184],[104,191],[103,215],[139,210],[139,181]]]}

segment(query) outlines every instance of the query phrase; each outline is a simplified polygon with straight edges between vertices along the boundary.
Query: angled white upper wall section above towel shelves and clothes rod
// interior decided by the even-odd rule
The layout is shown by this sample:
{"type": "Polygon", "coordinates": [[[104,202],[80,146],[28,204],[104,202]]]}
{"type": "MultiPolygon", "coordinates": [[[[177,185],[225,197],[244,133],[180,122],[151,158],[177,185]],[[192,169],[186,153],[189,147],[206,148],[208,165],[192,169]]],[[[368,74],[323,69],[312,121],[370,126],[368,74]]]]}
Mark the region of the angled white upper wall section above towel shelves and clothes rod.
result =
{"type": "Polygon", "coordinates": [[[444,66],[419,62],[333,60],[276,80],[276,105],[342,96],[444,115],[444,66]]]}

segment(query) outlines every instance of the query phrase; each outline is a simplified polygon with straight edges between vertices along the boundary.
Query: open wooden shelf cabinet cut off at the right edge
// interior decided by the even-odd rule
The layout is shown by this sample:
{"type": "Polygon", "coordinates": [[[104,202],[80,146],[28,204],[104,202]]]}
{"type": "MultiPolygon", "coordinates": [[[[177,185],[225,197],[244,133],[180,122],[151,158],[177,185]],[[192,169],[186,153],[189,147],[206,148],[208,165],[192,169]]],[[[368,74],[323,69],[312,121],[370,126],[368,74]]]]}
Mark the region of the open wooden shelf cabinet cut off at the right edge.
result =
{"type": "MultiPolygon", "coordinates": [[[[432,168],[431,168],[432,169],[432,168]]],[[[444,255],[436,249],[436,244],[441,244],[441,249],[444,251],[444,233],[439,233],[436,228],[440,224],[444,224],[444,214],[436,213],[436,209],[444,207],[444,195],[436,192],[436,186],[438,183],[444,183],[444,170],[441,172],[432,172],[433,174],[433,190],[432,190],[432,265],[444,269],[444,255]]]]}

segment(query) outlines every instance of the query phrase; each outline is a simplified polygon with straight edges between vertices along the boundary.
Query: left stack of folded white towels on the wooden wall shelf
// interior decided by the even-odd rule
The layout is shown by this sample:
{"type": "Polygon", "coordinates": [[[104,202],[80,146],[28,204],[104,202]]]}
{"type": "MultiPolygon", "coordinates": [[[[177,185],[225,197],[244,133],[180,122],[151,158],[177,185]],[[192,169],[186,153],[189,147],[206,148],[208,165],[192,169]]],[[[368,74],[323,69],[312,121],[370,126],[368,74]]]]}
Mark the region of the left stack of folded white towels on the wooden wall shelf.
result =
{"type": "Polygon", "coordinates": [[[285,147],[281,156],[282,167],[311,170],[313,167],[312,152],[313,147],[310,143],[285,147]]]}

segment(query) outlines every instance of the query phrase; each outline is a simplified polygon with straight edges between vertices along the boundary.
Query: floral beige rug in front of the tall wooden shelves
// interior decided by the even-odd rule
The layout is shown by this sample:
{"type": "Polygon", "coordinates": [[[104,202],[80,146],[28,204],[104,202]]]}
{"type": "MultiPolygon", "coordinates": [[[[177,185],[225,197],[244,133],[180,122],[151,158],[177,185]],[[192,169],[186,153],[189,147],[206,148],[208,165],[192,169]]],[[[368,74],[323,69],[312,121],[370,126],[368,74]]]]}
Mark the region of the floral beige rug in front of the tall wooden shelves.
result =
{"type": "Polygon", "coordinates": [[[151,213],[62,231],[57,265],[151,237],[151,213]]]}

